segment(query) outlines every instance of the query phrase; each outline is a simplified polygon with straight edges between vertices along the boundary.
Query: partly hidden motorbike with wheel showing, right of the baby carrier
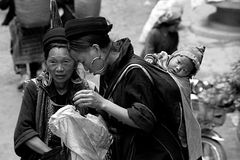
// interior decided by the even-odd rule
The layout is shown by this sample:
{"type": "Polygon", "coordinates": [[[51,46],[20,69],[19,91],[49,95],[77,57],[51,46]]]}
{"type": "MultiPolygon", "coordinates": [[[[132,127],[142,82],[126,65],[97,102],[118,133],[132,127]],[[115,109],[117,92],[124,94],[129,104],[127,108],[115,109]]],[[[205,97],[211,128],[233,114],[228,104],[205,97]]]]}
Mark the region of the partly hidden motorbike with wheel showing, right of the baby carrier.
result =
{"type": "Polygon", "coordinates": [[[191,80],[192,94],[191,101],[193,107],[193,113],[198,120],[201,133],[202,133],[202,148],[203,148],[203,160],[226,160],[226,151],[222,146],[224,138],[214,130],[215,127],[222,126],[226,120],[226,114],[228,113],[228,106],[230,103],[226,103],[224,106],[216,106],[214,103],[206,101],[205,98],[200,95],[208,90],[214,88],[214,85],[207,81],[199,79],[191,80]]]}

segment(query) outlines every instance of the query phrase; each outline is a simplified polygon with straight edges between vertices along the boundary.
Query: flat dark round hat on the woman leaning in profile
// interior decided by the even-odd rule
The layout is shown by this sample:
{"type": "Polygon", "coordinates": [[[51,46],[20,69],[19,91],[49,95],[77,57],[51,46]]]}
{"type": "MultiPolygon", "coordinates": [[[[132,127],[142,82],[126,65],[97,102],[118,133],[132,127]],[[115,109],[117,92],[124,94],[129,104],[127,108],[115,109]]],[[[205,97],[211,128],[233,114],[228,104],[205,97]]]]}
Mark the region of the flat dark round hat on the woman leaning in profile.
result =
{"type": "Polygon", "coordinates": [[[75,40],[88,34],[108,34],[111,29],[112,24],[108,24],[104,17],[71,19],[65,24],[68,40],[75,40]]]}

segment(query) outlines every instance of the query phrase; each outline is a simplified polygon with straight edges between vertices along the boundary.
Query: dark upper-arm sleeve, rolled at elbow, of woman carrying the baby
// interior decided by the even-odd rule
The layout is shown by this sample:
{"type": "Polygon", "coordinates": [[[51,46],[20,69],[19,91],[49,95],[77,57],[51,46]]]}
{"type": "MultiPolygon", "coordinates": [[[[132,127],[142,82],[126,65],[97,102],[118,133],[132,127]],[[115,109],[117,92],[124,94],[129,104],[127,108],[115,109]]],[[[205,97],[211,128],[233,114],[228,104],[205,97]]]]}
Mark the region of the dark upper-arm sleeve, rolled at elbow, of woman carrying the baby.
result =
{"type": "Polygon", "coordinates": [[[126,101],[129,117],[145,132],[151,132],[157,122],[156,94],[150,79],[141,69],[132,69],[127,75],[126,101]]]}

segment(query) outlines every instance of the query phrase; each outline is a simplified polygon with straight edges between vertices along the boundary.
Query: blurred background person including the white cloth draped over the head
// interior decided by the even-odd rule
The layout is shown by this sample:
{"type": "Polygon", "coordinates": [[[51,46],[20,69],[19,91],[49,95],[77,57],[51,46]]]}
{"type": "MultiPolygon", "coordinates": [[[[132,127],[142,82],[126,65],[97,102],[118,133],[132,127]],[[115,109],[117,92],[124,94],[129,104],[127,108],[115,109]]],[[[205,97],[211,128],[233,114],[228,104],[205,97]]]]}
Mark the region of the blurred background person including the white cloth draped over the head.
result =
{"type": "Polygon", "coordinates": [[[165,51],[172,54],[179,43],[178,25],[183,14],[182,0],[159,0],[143,26],[139,42],[141,57],[165,51]]]}

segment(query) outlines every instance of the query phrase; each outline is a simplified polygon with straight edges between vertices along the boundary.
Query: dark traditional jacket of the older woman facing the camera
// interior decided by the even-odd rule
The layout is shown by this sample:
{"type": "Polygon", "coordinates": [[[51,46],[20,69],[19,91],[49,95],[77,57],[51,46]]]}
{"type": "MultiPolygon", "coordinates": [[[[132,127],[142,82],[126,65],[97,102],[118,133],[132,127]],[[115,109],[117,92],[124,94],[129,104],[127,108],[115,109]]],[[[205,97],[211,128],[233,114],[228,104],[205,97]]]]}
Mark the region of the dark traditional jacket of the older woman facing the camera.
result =
{"type": "Polygon", "coordinates": [[[39,158],[40,155],[25,145],[26,141],[35,136],[49,147],[61,145],[60,138],[50,132],[48,120],[60,107],[73,104],[72,98],[77,91],[89,88],[87,81],[76,76],[77,74],[74,75],[64,95],[58,94],[54,83],[45,72],[27,83],[14,133],[15,152],[22,159],[39,158]]]}

